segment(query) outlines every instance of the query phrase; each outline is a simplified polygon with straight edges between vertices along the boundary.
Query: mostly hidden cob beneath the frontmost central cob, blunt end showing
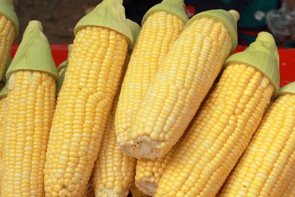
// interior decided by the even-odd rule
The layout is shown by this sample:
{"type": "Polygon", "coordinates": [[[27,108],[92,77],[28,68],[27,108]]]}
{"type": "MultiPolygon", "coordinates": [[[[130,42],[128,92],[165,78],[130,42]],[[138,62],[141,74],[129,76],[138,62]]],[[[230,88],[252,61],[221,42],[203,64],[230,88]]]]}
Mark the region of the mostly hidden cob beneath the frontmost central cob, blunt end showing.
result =
{"type": "MultiPolygon", "coordinates": [[[[207,93],[207,96],[202,101],[200,108],[205,104],[206,99],[209,97],[209,93],[213,91],[215,85],[216,84],[213,83],[212,87],[207,93]]],[[[193,123],[193,120],[191,121],[191,123],[193,123]]],[[[187,128],[190,128],[190,126],[188,126],[187,128]]],[[[155,195],[160,178],[167,168],[168,164],[170,163],[171,159],[173,158],[173,155],[179,147],[183,137],[185,136],[186,131],[184,131],[177,143],[164,157],[156,159],[142,158],[137,161],[135,185],[138,190],[152,197],[155,195]]]]}

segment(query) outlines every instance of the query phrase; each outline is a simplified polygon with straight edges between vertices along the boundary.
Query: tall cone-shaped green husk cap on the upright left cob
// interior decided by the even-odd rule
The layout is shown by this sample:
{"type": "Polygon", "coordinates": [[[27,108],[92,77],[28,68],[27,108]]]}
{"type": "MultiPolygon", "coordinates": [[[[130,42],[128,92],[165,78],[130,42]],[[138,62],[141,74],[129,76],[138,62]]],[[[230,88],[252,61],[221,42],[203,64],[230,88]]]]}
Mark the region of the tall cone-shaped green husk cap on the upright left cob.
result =
{"type": "Polygon", "coordinates": [[[29,22],[23,40],[7,70],[7,79],[18,70],[31,70],[47,72],[56,81],[59,81],[59,73],[52,57],[49,42],[42,30],[41,22],[29,22]]]}

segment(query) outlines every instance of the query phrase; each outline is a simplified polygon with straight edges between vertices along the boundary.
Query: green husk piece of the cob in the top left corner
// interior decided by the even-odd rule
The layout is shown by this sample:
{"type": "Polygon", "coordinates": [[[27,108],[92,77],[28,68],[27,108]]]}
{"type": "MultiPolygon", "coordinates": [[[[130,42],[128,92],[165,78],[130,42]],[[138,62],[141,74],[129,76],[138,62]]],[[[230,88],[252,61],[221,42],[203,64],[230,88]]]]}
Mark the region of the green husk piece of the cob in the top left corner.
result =
{"type": "Polygon", "coordinates": [[[13,0],[0,0],[0,13],[6,16],[14,26],[14,38],[16,38],[20,32],[20,26],[18,17],[13,8],[13,0]]]}

